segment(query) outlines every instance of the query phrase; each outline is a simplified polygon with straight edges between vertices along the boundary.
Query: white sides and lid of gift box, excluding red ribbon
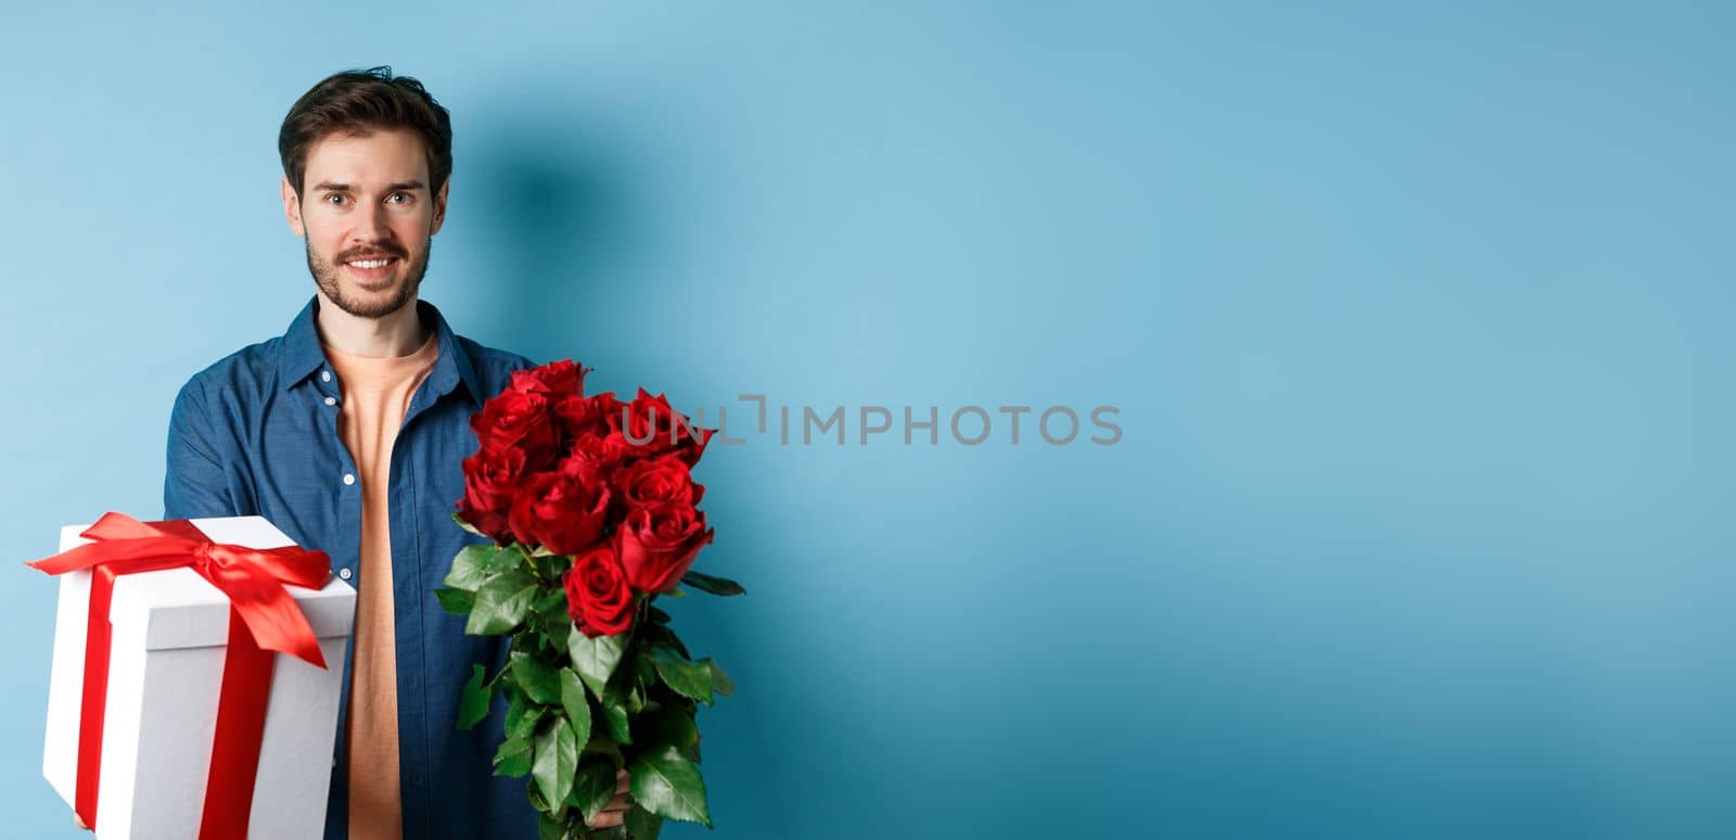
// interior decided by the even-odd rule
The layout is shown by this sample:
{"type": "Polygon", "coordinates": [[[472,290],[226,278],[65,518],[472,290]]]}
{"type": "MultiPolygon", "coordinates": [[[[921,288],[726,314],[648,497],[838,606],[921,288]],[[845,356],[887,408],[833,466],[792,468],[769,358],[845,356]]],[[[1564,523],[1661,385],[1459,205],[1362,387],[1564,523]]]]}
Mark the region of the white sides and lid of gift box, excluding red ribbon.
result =
{"type": "MultiPolygon", "coordinates": [[[[248,548],[295,545],[257,515],[189,522],[215,543],[248,548]]],[[[61,550],[89,543],[78,536],[87,528],[62,528],[61,550]]],[[[42,774],[71,805],[78,772],[90,571],[59,574],[59,581],[42,774]]],[[[248,837],[318,840],[325,833],[356,590],[337,576],[319,590],[293,585],[285,585],[285,590],[319,637],[326,668],[273,653],[276,661],[248,837]]],[[[115,580],[109,627],[95,837],[198,838],[229,639],[229,597],[191,568],[122,574],[115,580]]]]}

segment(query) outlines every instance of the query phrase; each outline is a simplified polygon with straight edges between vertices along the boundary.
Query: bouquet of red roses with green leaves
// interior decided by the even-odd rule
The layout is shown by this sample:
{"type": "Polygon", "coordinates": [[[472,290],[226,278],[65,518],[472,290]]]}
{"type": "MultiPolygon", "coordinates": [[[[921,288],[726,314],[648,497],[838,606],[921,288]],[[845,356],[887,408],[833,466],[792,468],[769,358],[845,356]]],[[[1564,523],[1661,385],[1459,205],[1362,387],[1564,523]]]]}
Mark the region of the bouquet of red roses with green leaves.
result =
{"type": "Polygon", "coordinates": [[[653,606],[687,585],[740,595],[726,578],[691,571],[712,541],[691,469],[712,429],[661,396],[583,394],[573,361],[517,371],[470,418],[477,451],[464,460],[453,519],[493,540],[451,561],[436,597],[469,616],[467,633],[510,635],[500,673],[476,665],[458,727],[507,698],[496,776],[529,776],[543,840],[595,837],[587,823],[628,772],[632,807],[604,837],[656,837],[663,819],[710,826],[696,767],[698,705],[734,686],[693,660],[653,606]]]}

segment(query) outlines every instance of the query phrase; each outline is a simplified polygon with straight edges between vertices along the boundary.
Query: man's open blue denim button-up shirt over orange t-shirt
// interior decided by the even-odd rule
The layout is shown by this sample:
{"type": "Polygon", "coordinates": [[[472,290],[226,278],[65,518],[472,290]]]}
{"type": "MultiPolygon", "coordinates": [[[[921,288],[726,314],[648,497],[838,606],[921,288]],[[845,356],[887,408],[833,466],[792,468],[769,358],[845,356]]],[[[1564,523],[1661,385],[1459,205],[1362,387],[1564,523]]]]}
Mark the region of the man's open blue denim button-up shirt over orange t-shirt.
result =
{"type": "MultiPolygon", "coordinates": [[[[464,496],[460,462],[476,451],[470,415],[498,394],[523,356],[453,335],[427,302],[417,309],[439,342],[427,375],[392,444],[392,580],[361,578],[361,482],[339,437],[337,375],[314,328],[319,299],[288,331],[236,351],[194,375],[168,420],[168,477],[163,517],[264,515],[306,548],[332,555],[349,583],[392,587],[398,646],[398,745],[404,837],[535,838],[536,812],[526,779],[495,778],[505,703],[458,731],[458,696],[472,663],[498,670],[503,637],[464,635],[464,618],[439,607],[453,554],[476,541],[451,521],[464,496]]],[[[349,833],[349,784],[342,748],[349,710],[351,656],[326,800],[326,840],[349,833]]]]}

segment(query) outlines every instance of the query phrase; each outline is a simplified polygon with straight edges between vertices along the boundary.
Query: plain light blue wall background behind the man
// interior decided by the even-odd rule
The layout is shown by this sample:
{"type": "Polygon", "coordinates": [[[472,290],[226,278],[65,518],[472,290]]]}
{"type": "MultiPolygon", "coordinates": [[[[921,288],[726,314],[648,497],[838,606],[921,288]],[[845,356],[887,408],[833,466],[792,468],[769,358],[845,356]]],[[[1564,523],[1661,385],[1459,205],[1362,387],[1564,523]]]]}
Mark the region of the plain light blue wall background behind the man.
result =
{"type": "MultiPolygon", "coordinates": [[[[278,123],[392,64],[470,337],[1120,408],[713,448],[750,595],[672,611],[741,689],[668,837],[1733,837],[1736,16],[1408,5],[9,3],[0,555],[160,514],[175,389],[311,295],[278,123]]],[[[7,833],[78,837],[3,574],[7,833]]]]}

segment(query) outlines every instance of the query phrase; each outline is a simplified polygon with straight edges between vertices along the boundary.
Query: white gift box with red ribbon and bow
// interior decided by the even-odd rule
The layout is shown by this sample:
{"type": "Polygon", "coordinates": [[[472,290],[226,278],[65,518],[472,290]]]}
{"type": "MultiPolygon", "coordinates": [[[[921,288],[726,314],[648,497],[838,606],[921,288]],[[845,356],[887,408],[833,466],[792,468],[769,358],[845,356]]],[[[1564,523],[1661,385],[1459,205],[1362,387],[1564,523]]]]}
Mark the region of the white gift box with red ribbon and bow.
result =
{"type": "Polygon", "coordinates": [[[257,515],[120,514],[64,528],[61,552],[31,564],[61,590],[42,772],[80,816],[94,812],[95,837],[319,838],[356,614],[356,590],[325,554],[257,515]],[[87,661],[87,644],[106,646],[106,661],[87,661]]]}

